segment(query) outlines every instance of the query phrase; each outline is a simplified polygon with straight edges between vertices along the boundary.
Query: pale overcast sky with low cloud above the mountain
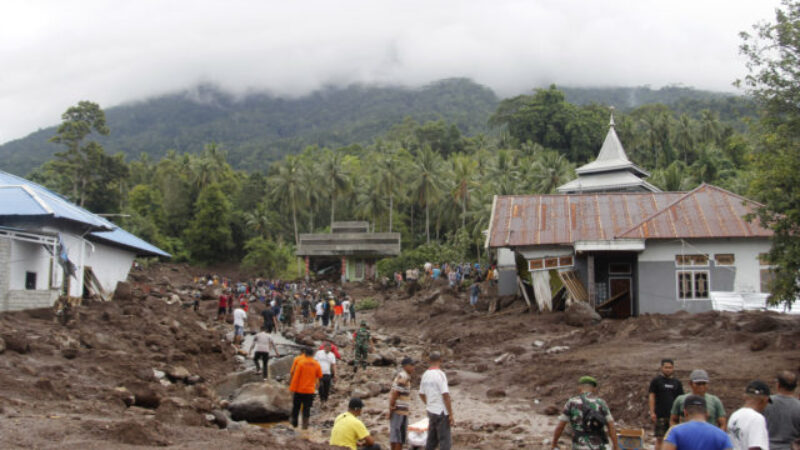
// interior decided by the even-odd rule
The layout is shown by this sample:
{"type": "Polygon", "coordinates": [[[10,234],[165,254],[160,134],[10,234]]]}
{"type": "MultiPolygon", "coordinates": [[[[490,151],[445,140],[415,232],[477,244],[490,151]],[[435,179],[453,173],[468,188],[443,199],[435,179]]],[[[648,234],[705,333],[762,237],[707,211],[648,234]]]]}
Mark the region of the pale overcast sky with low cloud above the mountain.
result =
{"type": "Polygon", "coordinates": [[[0,143],[214,83],[295,97],[467,77],[502,96],[565,86],[733,91],[740,31],[778,0],[3,0],[0,143]]]}

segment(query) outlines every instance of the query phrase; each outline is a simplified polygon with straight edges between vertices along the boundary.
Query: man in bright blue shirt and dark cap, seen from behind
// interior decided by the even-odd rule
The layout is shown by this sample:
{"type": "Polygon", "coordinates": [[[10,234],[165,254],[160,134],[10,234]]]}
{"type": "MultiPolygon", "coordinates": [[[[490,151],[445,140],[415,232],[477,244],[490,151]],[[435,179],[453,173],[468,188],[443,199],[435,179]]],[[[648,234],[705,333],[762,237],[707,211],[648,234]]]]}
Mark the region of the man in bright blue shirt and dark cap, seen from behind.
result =
{"type": "Polygon", "coordinates": [[[683,399],[685,421],[675,425],[664,436],[664,450],[729,450],[733,448],[728,435],[708,423],[706,397],[687,395],[683,399]]]}

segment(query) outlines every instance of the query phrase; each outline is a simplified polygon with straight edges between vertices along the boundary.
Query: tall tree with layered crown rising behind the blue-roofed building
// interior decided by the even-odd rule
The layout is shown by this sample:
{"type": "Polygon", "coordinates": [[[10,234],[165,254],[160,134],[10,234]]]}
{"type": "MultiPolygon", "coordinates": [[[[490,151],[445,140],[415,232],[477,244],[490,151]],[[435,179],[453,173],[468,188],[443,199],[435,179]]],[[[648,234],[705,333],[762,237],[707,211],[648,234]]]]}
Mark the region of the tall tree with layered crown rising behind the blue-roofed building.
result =
{"type": "Polygon", "coordinates": [[[58,169],[70,176],[72,200],[84,206],[92,177],[102,169],[98,163],[105,155],[100,144],[95,141],[84,142],[84,139],[92,134],[92,130],[103,136],[108,135],[106,114],[97,103],[84,100],[67,109],[61,119],[61,125],[50,142],[67,147],[66,151],[56,153],[58,169]]]}

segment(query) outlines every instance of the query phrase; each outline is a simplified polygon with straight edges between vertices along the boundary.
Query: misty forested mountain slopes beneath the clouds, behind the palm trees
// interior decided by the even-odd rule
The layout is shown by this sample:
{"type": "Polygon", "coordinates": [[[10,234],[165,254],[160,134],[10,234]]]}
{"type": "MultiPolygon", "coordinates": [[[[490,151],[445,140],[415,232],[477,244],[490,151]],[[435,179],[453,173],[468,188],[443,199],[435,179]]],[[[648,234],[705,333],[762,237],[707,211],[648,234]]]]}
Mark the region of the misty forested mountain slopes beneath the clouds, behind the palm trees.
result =
{"type": "MultiPolygon", "coordinates": [[[[686,87],[561,90],[570,103],[614,105],[620,111],[663,103],[677,114],[698,118],[701,110],[708,109],[736,128],[742,117],[754,115],[747,99],[686,87]]],[[[263,170],[308,145],[369,144],[405,117],[418,123],[441,120],[465,136],[488,133],[488,119],[498,103],[491,89],[466,79],[441,80],[418,89],[329,87],[299,98],[266,93],[237,97],[202,85],[108,108],[112,131],[99,136],[98,142],[106,152],[122,152],[128,160],[146,153],[156,161],[168,150],[199,153],[215,142],[227,151],[234,168],[263,170]]],[[[55,127],[50,127],[0,146],[0,167],[26,175],[58,151],[48,142],[54,134],[55,127]]]]}

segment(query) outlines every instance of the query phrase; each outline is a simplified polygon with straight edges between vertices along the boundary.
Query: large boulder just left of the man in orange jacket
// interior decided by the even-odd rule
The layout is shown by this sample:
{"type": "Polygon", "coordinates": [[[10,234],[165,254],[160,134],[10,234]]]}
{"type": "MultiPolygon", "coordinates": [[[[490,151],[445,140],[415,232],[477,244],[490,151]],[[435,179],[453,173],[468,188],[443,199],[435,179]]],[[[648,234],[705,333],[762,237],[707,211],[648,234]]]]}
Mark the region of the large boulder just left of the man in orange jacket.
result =
{"type": "Polygon", "coordinates": [[[291,409],[292,397],[286,386],[271,380],[242,386],[228,405],[233,420],[259,423],[286,420],[291,409]]]}

